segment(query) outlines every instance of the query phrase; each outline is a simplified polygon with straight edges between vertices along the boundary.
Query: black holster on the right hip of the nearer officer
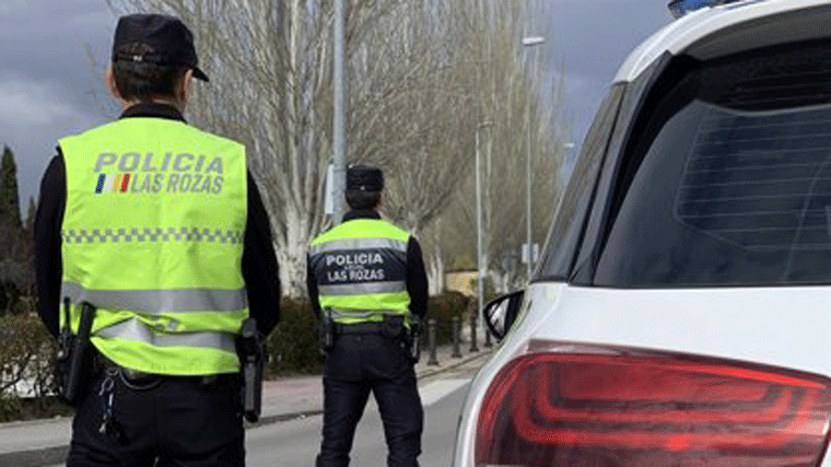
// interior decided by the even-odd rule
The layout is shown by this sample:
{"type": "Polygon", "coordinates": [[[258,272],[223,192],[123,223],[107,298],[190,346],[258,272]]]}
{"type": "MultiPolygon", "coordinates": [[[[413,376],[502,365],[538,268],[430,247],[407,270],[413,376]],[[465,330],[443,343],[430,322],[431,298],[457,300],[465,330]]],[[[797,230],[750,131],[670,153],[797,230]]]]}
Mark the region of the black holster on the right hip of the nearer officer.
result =
{"type": "Polygon", "coordinates": [[[265,345],[257,330],[257,320],[246,318],[236,345],[243,376],[243,415],[254,423],[262,410],[262,373],[265,366],[265,345]]]}

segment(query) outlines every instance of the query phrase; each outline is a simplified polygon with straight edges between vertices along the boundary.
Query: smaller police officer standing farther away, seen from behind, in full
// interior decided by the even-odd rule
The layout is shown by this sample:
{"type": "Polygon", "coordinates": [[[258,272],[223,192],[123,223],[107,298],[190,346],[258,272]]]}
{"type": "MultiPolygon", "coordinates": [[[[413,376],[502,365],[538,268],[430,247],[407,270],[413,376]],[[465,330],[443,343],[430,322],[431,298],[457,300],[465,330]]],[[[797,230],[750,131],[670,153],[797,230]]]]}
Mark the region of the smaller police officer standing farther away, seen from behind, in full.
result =
{"type": "Polygon", "coordinates": [[[309,248],[313,310],[333,320],[324,370],[324,428],[317,467],[349,465],[352,440],[372,390],[387,441],[387,465],[415,467],[423,409],[407,349],[411,317],[426,312],[428,287],[419,243],[382,220],[384,177],[351,166],[351,211],[309,248]]]}

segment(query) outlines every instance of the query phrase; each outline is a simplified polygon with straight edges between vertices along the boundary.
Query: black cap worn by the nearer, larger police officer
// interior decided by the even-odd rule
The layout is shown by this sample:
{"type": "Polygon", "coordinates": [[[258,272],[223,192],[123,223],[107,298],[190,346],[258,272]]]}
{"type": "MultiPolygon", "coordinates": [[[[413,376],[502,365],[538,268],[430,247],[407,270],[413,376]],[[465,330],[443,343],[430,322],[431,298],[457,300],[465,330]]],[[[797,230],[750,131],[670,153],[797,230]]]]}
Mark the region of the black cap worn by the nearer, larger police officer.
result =
{"type": "Polygon", "coordinates": [[[113,61],[150,62],[194,69],[194,78],[208,81],[197,67],[194,35],[179,19],[164,14],[128,14],[118,19],[113,40],[113,61]],[[121,46],[142,44],[147,54],[119,52],[121,46]]]}

